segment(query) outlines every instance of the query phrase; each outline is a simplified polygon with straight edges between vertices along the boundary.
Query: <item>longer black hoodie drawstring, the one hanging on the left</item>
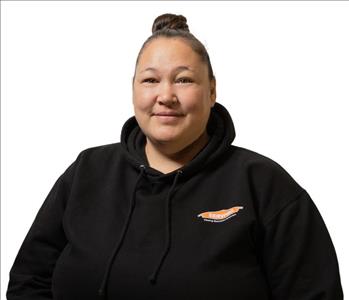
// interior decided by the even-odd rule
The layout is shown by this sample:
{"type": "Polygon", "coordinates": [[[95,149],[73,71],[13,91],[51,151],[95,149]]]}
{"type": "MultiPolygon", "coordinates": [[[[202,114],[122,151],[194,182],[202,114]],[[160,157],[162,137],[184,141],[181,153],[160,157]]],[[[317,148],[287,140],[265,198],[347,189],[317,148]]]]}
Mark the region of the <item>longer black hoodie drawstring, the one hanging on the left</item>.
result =
{"type": "Polygon", "coordinates": [[[107,267],[106,267],[106,269],[105,269],[105,272],[104,272],[104,276],[103,276],[103,281],[102,281],[101,287],[100,287],[99,290],[98,290],[98,294],[99,294],[99,296],[101,296],[101,297],[104,297],[104,296],[105,296],[105,290],[106,290],[107,280],[108,280],[109,273],[110,273],[110,268],[111,268],[111,266],[112,266],[112,263],[113,263],[113,260],[114,260],[114,258],[115,258],[115,256],[116,256],[116,254],[117,254],[117,253],[119,252],[119,250],[120,250],[121,243],[122,243],[123,240],[124,240],[124,237],[125,237],[125,234],[126,234],[128,225],[129,225],[130,220],[131,220],[131,215],[132,215],[132,212],[133,212],[133,209],[134,209],[134,206],[135,206],[135,194],[136,194],[137,186],[138,186],[139,180],[140,180],[141,177],[143,176],[144,170],[145,170],[145,166],[144,166],[144,165],[140,165],[139,167],[140,167],[140,169],[141,169],[141,172],[140,172],[139,175],[138,175],[138,178],[137,178],[135,187],[134,187],[134,189],[133,189],[132,198],[131,198],[130,210],[129,210],[129,212],[128,212],[128,216],[127,216],[127,219],[126,219],[124,228],[123,228],[123,230],[122,230],[121,237],[120,237],[118,243],[115,245],[115,248],[114,248],[114,250],[113,250],[113,252],[112,252],[112,255],[111,255],[110,258],[109,258],[108,265],[107,265],[107,267]]]}

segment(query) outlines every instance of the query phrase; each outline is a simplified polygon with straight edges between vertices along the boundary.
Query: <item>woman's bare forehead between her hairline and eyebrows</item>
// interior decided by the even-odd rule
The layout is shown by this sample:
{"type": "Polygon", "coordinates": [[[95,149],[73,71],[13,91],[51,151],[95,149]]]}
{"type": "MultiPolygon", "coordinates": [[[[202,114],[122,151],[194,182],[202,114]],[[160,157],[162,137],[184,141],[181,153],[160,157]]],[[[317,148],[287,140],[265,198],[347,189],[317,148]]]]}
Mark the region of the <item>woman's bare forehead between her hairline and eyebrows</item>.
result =
{"type": "Polygon", "coordinates": [[[200,56],[191,48],[185,40],[181,38],[156,38],[149,42],[143,49],[137,70],[142,71],[147,68],[172,69],[178,65],[186,65],[190,69],[200,69],[205,67],[200,56]]]}

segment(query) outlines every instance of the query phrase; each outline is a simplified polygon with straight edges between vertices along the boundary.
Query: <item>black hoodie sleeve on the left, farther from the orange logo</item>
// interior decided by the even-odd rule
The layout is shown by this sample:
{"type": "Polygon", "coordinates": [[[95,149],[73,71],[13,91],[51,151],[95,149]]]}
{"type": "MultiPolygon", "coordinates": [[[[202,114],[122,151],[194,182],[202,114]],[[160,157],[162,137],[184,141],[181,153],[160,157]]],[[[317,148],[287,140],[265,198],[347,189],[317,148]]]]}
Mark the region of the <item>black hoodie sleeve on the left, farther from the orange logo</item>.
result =
{"type": "Polygon", "coordinates": [[[51,276],[67,244],[63,214],[76,161],[56,180],[40,207],[9,274],[8,300],[48,300],[51,276]]]}

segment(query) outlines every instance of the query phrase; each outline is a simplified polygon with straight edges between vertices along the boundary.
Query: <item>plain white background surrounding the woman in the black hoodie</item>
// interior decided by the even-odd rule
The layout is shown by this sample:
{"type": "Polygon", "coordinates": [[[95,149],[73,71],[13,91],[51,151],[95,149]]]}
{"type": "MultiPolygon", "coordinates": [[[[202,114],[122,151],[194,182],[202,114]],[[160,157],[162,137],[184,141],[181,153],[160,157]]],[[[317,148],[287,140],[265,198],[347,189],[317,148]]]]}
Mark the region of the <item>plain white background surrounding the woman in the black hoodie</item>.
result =
{"type": "Polygon", "coordinates": [[[1,299],[46,195],[88,147],[120,141],[155,17],[207,47],[233,144],[281,164],[311,195],[348,286],[349,3],[1,3],[1,299]]]}

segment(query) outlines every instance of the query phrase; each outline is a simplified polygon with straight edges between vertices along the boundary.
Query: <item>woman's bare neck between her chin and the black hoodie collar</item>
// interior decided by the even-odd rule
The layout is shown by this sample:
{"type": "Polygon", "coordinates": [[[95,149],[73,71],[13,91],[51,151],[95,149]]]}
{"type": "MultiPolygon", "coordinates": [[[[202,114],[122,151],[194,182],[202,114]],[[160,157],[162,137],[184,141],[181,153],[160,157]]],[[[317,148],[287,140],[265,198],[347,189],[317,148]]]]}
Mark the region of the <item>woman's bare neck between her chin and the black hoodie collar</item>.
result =
{"type": "Polygon", "coordinates": [[[195,155],[205,147],[208,140],[209,135],[205,130],[199,138],[191,144],[185,147],[177,146],[177,149],[174,149],[173,146],[169,144],[154,143],[147,137],[145,153],[149,165],[166,174],[181,168],[191,161],[195,155]]]}

